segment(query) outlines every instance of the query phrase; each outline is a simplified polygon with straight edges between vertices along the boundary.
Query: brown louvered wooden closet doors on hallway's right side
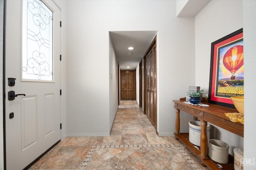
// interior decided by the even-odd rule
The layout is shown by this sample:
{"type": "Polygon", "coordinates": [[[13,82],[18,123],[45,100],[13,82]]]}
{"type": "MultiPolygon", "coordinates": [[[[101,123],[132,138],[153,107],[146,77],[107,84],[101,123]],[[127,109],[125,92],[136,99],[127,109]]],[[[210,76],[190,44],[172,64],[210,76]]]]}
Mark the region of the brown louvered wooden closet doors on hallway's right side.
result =
{"type": "Polygon", "coordinates": [[[150,45],[150,48],[144,57],[144,66],[146,66],[144,68],[144,113],[156,129],[156,38],[150,45]]]}

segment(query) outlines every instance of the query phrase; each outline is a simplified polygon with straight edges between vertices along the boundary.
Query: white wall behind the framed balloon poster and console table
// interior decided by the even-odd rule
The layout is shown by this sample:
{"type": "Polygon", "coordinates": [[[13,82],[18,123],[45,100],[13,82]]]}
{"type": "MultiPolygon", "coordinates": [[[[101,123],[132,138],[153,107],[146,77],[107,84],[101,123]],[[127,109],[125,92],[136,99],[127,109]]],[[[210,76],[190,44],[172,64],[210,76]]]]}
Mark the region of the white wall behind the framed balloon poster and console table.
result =
{"type": "MultiPolygon", "coordinates": [[[[195,17],[196,86],[201,86],[205,94],[209,88],[211,43],[242,27],[242,0],[212,0],[195,17]]],[[[230,154],[233,155],[235,147],[243,148],[244,138],[214,125],[212,127],[211,137],[228,143],[230,154]]]]}

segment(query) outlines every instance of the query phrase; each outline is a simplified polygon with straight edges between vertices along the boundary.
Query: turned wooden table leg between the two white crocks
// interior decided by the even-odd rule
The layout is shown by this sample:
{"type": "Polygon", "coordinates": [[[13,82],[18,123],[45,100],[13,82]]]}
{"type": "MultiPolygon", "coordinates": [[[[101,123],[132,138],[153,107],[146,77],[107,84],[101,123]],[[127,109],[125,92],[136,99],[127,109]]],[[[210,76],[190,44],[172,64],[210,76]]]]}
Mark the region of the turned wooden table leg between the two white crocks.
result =
{"type": "Polygon", "coordinates": [[[208,150],[208,139],[207,139],[207,122],[201,121],[201,137],[200,137],[200,158],[202,160],[208,160],[207,156],[208,150]]]}

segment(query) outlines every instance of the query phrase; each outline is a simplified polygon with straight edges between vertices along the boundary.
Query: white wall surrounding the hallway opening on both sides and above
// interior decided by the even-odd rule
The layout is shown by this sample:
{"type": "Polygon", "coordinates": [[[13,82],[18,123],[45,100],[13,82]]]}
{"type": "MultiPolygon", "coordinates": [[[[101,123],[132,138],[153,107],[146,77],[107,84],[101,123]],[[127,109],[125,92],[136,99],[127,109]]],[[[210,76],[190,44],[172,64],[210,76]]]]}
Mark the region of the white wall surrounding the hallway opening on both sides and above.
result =
{"type": "Polygon", "coordinates": [[[194,72],[187,75],[194,63],[194,19],[176,18],[176,1],[66,2],[68,135],[109,134],[109,99],[116,94],[109,92],[108,32],[150,30],[158,31],[158,132],[173,134],[172,100],[195,82],[194,72]]]}

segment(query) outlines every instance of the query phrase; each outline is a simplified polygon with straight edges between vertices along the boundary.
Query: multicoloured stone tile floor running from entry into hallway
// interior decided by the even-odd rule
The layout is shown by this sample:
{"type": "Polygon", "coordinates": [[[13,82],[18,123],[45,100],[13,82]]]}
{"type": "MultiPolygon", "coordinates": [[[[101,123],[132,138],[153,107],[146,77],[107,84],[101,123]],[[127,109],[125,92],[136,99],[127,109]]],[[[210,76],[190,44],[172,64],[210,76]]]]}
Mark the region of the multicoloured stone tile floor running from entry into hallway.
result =
{"type": "Polygon", "coordinates": [[[66,137],[30,170],[207,170],[174,137],[158,137],[135,101],[121,101],[110,137],[66,137]]]}

